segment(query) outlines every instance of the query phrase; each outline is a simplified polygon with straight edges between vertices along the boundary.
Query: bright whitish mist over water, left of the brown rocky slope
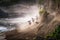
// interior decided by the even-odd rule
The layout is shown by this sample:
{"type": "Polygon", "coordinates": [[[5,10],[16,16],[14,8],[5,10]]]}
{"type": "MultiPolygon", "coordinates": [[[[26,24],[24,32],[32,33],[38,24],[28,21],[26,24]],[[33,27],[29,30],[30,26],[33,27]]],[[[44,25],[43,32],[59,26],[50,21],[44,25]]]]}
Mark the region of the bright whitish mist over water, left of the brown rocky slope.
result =
{"type": "Polygon", "coordinates": [[[11,26],[13,30],[15,29],[14,27],[16,27],[17,24],[28,22],[32,18],[36,18],[36,16],[39,16],[39,8],[36,4],[16,4],[13,6],[9,6],[8,8],[2,7],[0,9],[2,11],[0,11],[0,23],[2,23],[1,26],[3,26],[4,28],[10,28],[11,26]]]}

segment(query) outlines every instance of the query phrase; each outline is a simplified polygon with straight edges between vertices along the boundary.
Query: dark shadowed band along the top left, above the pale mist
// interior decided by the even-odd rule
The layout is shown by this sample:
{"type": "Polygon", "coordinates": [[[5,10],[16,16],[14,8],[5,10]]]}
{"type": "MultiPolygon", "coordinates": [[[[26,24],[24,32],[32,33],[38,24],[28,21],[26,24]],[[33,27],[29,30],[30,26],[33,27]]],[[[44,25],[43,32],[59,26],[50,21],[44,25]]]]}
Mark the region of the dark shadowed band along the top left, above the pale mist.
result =
{"type": "Polygon", "coordinates": [[[0,6],[10,6],[10,5],[14,5],[14,4],[19,4],[19,3],[23,3],[23,4],[35,4],[36,0],[0,0],[0,6]]]}

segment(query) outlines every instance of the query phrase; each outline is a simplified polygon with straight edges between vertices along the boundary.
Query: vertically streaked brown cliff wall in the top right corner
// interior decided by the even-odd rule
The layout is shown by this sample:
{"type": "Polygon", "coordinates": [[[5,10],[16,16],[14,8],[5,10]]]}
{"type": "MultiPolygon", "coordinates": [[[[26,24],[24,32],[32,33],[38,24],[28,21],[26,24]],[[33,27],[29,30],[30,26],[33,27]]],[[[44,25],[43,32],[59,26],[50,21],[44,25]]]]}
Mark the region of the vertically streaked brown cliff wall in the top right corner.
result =
{"type": "Polygon", "coordinates": [[[49,10],[50,12],[58,12],[60,9],[60,0],[45,0],[44,6],[46,10],[49,10]]]}

